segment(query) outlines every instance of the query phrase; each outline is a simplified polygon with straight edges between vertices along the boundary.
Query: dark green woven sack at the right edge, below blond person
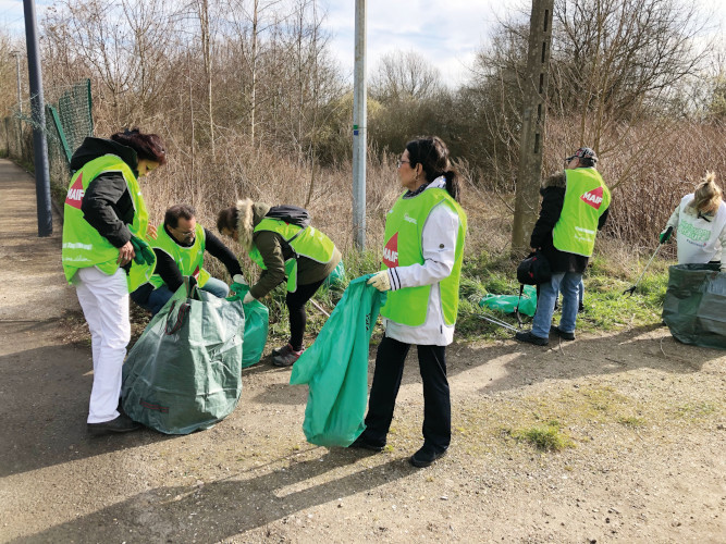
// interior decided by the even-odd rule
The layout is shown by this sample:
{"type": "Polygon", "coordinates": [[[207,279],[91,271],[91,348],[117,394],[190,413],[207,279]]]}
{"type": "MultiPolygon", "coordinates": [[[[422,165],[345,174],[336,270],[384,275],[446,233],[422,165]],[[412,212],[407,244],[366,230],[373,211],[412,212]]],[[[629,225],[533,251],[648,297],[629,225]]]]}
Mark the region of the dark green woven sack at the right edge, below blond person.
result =
{"type": "Polygon", "coordinates": [[[684,344],[726,349],[726,273],[718,264],[668,269],[663,321],[684,344]]]}

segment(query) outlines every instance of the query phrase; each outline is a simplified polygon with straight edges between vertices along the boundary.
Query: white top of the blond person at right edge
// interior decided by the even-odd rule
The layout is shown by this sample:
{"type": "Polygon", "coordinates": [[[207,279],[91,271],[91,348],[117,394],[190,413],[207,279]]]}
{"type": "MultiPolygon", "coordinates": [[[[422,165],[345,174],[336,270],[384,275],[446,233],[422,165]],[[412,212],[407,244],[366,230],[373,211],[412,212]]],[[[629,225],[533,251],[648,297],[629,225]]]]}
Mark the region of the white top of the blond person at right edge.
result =
{"type": "Polygon", "coordinates": [[[726,270],[726,203],[721,202],[714,214],[701,215],[691,206],[694,195],[686,195],[666,223],[677,232],[678,264],[721,261],[726,270]]]}

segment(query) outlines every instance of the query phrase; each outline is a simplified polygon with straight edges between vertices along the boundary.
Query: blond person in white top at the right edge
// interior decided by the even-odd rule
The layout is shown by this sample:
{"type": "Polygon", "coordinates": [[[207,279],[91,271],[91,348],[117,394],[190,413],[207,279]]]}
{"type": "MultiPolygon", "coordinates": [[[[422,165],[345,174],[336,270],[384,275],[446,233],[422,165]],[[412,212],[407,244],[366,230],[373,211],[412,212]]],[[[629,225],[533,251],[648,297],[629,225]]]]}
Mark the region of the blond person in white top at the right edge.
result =
{"type": "Polygon", "coordinates": [[[713,172],[706,172],[696,191],[680,200],[660,235],[661,244],[668,240],[674,230],[678,264],[716,262],[722,272],[726,271],[722,250],[726,246],[726,203],[713,172]]]}

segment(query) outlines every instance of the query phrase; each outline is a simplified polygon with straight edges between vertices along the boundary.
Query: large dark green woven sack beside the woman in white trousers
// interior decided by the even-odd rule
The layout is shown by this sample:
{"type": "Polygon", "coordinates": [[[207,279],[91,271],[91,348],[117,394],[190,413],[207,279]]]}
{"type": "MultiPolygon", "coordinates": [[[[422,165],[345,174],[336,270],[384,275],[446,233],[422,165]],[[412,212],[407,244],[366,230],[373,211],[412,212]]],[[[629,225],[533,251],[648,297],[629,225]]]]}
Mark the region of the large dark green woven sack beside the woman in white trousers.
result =
{"type": "Polygon", "coordinates": [[[123,366],[124,411],[167,434],[209,429],[242,393],[242,302],[187,285],[149,322],[123,366]]]}

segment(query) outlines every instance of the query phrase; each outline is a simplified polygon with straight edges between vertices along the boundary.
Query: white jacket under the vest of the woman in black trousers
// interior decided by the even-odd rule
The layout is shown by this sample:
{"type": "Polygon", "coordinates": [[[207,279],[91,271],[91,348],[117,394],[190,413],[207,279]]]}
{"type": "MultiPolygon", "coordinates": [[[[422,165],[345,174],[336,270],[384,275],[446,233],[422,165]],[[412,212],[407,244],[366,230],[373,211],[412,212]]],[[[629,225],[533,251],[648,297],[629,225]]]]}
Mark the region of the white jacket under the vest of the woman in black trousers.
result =
{"type": "MultiPolygon", "coordinates": [[[[431,182],[424,190],[445,187],[446,180],[442,176],[431,182]]],[[[423,324],[409,326],[386,319],[387,337],[422,346],[447,346],[453,342],[454,325],[444,322],[439,282],[448,277],[454,268],[458,230],[458,214],[443,202],[438,203],[431,209],[421,231],[423,264],[389,269],[391,290],[431,285],[431,293],[423,324]]]]}

